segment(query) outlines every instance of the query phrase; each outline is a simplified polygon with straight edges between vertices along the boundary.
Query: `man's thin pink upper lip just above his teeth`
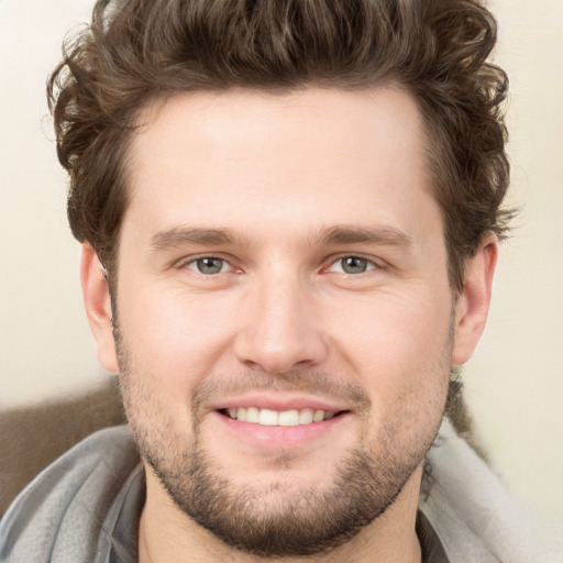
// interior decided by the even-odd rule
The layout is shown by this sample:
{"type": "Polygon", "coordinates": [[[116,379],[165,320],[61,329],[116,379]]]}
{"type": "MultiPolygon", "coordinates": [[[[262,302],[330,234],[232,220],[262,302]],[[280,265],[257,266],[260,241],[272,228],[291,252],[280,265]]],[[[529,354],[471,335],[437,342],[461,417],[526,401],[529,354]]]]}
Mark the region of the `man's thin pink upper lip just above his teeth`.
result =
{"type": "Polygon", "coordinates": [[[314,396],[272,396],[264,394],[249,394],[240,397],[231,397],[221,401],[217,401],[211,406],[212,410],[232,409],[232,408],[247,408],[256,407],[258,409],[271,409],[279,412],[286,410],[324,410],[331,412],[340,412],[343,410],[350,410],[346,405],[342,402],[335,402],[321,397],[314,396]]]}

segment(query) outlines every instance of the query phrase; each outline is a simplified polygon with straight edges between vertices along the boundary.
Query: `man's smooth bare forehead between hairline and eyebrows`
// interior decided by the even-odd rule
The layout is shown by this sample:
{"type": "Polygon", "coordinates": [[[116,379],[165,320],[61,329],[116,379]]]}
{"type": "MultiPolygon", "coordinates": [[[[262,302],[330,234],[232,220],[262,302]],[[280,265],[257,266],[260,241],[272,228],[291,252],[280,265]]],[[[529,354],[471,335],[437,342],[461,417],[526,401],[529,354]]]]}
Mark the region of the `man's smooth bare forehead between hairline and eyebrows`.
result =
{"type": "Polygon", "coordinates": [[[183,93],[147,108],[140,125],[125,228],[252,238],[382,223],[416,238],[420,206],[440,222],[421,118],[396,88],[183,93]]]}

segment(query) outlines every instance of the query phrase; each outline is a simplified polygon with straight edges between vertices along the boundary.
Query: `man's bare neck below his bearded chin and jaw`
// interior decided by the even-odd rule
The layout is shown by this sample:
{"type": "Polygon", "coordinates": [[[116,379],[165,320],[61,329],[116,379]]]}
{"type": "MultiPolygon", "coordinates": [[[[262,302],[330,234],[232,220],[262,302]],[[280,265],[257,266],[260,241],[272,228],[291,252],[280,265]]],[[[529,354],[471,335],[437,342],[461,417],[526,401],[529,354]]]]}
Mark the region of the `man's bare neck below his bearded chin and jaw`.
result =
{"type": "MultiPolygon", "coordinates": [[[[224,544],[184,515],[169,498],[150,467],[146,471],[146,504],[139,530],[140,563],[302,563],[303,558],[268,558],[247,554],[224,544]]],[[[357,536],[340,548],[309,556],[311,563],[401,562],[420,563],[420,544],[415,530],[422,466],[405,484],[391,506],[357,536]]]]}

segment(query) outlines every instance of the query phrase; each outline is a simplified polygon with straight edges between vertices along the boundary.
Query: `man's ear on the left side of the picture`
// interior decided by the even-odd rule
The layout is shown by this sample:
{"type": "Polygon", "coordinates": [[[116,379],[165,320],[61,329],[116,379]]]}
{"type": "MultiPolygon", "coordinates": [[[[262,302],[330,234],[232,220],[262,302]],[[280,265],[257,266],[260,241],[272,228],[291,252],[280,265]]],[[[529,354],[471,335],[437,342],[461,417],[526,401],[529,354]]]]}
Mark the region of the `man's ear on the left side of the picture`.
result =
{"type": "Polygon", "coordinates": [[[98,347],[98,361],[107,372],[117,374],[110,291],[103,266],[89,243],[82,244],[80,283],[86,314],[98,347]]]}

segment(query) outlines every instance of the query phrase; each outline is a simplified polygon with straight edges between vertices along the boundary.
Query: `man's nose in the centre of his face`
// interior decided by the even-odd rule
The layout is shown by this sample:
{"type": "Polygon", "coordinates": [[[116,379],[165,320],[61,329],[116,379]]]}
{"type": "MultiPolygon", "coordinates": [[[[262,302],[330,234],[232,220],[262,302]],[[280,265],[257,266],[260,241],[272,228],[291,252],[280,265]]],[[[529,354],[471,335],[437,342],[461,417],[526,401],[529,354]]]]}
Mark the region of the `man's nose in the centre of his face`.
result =
{"type": "Polygon", "coordinates": [[[329,352],[314,295],[295,276],[257,282],[241,311],[238,360],[252,369],[284,374],[321,364],[329,352]]]}

